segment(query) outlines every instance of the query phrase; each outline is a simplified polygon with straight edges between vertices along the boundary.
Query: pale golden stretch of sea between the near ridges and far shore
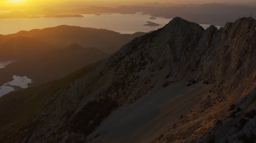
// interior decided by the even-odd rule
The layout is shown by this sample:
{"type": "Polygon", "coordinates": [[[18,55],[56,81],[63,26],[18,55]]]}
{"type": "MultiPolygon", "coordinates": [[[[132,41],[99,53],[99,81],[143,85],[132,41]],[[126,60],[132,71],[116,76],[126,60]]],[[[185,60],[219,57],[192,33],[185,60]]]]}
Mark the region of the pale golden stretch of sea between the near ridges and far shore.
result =
{"type": "MultiPolygon", "coordinates": [[[[22,30],[33,30],[58,25],[75,25],[82,27],[103,28],[119,33],[150,32],[161,28],[171,19],[157,17],[150,19],[151,15],[135,14],[84,14],[84,17],[68,18],[11,18],[0,19],[0,34],[12,34],[22,30]],[[147,21],[152,21],[160,26],[144,26],[147,21]]],[[[202,25],[204,28],[209,25],[202,25]]]]}

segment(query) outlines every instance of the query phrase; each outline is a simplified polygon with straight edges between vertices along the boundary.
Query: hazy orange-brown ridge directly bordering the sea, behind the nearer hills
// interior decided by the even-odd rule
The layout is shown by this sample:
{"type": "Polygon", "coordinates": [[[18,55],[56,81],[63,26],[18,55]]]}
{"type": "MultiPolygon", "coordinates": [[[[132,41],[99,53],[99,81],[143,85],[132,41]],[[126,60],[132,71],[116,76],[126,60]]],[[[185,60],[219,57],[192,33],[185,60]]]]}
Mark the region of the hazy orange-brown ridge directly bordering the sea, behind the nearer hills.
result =
{"type": "Polygon", "coordinates": [[[91,48],[96,45],[98,49],[104,52],[114,53],[126,41],[131,41],[134,37],[144,34],[145,33],[142,32],[136,32],[134,34],[120,34],[115,31],[98,28],[59,25],[43,29],[20,31],[15,34],[3,35],[3,37],[10,39],[12,37],[24,36],[40,40],[55,47],[65,47],[74,42],[87,48],[91,48]],[[114,43],[112,42],[114,39],[118,40],[114,43]],[[97,45],[97,43],[103,44],[97,45]]]}

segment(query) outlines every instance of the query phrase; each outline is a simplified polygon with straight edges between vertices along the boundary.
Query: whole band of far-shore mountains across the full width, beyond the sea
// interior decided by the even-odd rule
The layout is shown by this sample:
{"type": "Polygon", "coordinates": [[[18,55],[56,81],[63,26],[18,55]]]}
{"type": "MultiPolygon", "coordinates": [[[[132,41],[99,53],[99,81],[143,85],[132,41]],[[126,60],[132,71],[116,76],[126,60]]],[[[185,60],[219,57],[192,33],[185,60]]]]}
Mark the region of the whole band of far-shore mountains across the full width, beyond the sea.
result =
{"type": "MultiPolygon", "coordinates": [[[[72,2],[73,3],[73,2],[72,2]]],[[[74,4],[74,3],[73,3],[74,4]]],[[[72,5],[72,4],[70,4],[72,5]]],[[[174,18],[184,17],[190,21],[201,24],[213,24],[223,26],[226,21],[234,21],[238,17],[246,17],[249,13],[256,16],[256,3],[235,4],[235,3],[212,3],[212,4],[159,4],[147,3],[135,6],[100,7],[100,6],[75,6],[74,8],[63,7],[61,10],[47,9],[37,11],[11,11],[0,13],[0,18],[40,18],[40,17],[83,17],[80,14],[108,14],[121,13],[132,14],[142,12],[155,17],[174,18]],[[79,7],[79,8],[77,8],[79,7]],[[69,13],[69,14],[67,14],[69,13]]]]}

